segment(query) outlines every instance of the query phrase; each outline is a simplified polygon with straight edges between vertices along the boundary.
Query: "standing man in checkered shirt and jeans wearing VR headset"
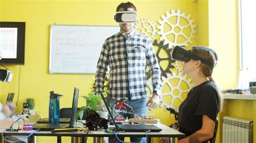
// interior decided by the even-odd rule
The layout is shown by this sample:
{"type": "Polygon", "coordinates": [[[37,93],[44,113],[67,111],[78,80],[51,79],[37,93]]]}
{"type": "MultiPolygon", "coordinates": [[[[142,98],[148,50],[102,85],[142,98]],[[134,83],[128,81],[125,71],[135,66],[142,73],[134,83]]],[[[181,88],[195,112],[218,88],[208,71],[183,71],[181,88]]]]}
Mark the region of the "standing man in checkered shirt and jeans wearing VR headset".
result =
{"type": "MultiPolygon", "coordinates": [[[[147,106],[157,108],[160,95],[160,67],[156,53],[149,38],[137,33],[133,23],[137,21],[136,7],[130,3],[117,6],[114,19],[120,26],[120,32],[107,38],[97,63],[96,95],[103,91],[107,66],[110,66],[110,79],[107,89],[107,104],[113,108],[118,100],[126,101],[140,115],[147,115],[147,106]],[[153,95],[148,100],[146,84],[146,66],[149,66],[153,95]]],[[[98,104],[104,105],[103,101],[98,104]]],[[[104,109],[101,109],[104,110],[104,109]]],[[[134,118],[134,115],[124,114],[134,118]]],[[[131,138],[138,142],[141,138],[131,138]]]]}

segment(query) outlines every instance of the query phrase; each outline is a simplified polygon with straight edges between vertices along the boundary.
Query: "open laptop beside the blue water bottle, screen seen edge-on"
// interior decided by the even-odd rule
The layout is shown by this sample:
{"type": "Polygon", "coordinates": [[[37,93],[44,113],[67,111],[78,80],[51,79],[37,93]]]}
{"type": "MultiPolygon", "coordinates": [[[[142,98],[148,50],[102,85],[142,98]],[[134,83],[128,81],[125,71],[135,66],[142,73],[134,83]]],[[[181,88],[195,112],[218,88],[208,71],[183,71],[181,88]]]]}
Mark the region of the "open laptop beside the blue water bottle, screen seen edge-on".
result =
{"type": "Polygon", "coordinates": [[[41,131],[51,131],[56,128],[72,128],[75,124],[76,112],[77,112],[77,103],[78,103],[78,94],[79,89],[74,89],[73,102],[72,102],[72,111],[69,124],[49,124],[49,123],[37,123],[33,125],[33,130],[40,129],[41,131]]]}

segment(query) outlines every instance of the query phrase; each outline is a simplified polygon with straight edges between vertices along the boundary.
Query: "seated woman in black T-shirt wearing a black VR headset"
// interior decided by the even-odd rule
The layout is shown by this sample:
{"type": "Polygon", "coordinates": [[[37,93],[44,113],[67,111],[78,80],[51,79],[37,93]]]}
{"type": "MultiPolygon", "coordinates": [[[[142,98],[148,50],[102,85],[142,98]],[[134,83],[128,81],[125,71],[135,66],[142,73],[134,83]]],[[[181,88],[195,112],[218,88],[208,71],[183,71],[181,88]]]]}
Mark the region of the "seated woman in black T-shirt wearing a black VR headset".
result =
{"type": "Polygon", "coordinates": [[[178,142],[204,142],[213,137],[215,120],[223,107],[223,97],[212,78],[218,57],[213,49],[193,47],[191,51],[176,46],[172,59],[184,62],[183,72],[195,86],[179,106],[179,131],[186,138],[178,142]]]}

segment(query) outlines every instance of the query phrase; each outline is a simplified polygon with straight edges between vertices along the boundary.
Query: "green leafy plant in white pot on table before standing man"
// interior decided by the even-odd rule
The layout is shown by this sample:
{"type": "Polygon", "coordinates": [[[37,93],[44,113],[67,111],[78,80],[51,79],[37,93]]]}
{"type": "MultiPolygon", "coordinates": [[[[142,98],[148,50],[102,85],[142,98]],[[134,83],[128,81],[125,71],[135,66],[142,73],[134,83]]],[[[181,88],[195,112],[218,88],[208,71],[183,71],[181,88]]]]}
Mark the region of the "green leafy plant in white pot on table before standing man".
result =
{"type": "MultiPolygon", "coordinates": [[[[103,95],[106,95],[106,91],[103,92],[103,95]]],[[[76,119],[78,119],[78,117],[82,119],[84,112],[86,112],[88,109],[97,112],[99,116],[102,118],[107,117],[107,112],[99,111],[99,109],[104,107],[104,105],[97,105],[97,103],[102,99],[100,95],[95,95],[94,92],[90,92],[89,94],[87,94],[87,96],[81,97],[83,97],[86,100],[86,106],[82,106],[79,110],[77,110],[76,119]]]]}

